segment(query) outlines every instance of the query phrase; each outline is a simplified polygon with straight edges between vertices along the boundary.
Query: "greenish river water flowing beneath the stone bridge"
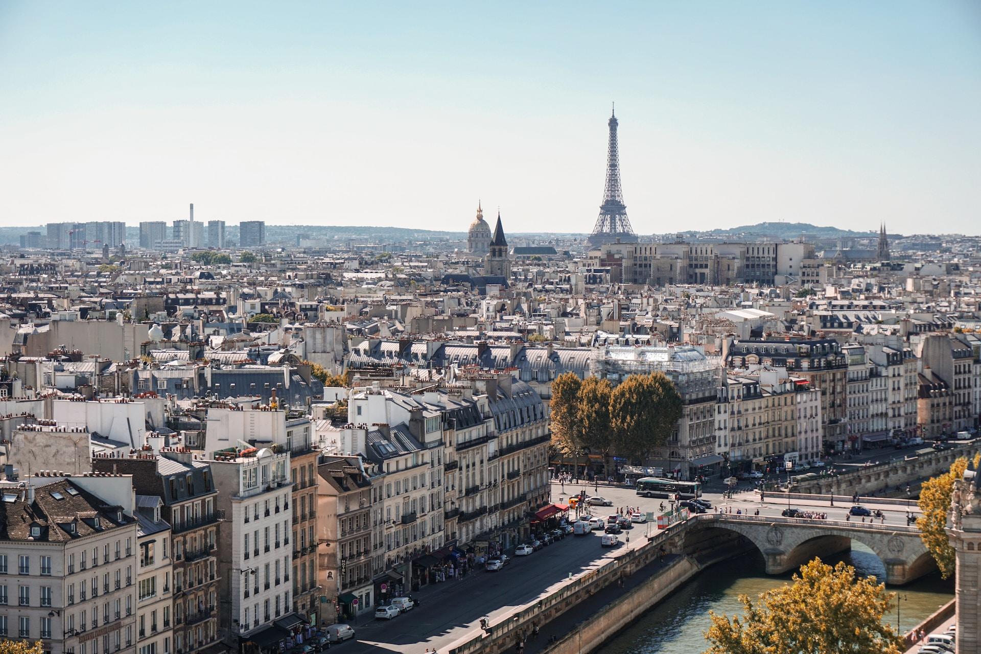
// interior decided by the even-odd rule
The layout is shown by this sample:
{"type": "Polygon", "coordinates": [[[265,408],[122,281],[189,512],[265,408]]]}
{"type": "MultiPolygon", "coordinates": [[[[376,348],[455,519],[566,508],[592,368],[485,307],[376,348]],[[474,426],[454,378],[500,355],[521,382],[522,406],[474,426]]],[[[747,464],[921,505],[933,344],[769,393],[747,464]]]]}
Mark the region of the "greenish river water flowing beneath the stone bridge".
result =
{"type": "MultiPolygon", "coordinates": [[[[845,561],[863,576],[885,579],[886,570],[875,554],[860,543],[826,563],[845,561]]],[[[708,629],[708,612],[732,617],[742,614],[741,594],[751,599],[764,590],[787,582],[792,573],[769,576],[758,552],[712,566],[692,579],[660,604],[647,611],[636,623],[623,629],[603,645],[600,654],[697,654],[708,647],[704,631],[708,629]]],[[[900,627],[912,629],[921,620],[954,597],[954,579],[940,579],[933,573],[909,583],[890,588],[906,597],[901,607],[900,627]]],[[[896,612],[886,614],[885,621],[896,625],[896,612]]]]}

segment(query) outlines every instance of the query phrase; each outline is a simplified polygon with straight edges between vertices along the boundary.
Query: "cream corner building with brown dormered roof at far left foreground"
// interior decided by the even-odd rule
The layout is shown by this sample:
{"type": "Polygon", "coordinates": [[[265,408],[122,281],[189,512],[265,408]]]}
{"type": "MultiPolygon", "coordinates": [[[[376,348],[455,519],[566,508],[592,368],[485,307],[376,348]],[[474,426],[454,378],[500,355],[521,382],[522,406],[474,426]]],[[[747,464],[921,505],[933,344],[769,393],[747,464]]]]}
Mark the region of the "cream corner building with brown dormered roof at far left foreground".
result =
{"type": "Polygon", "coordinates": [[[130,484],[42,473],[0,486],[0,637],[52,654],[135,654],[130,484]]]}

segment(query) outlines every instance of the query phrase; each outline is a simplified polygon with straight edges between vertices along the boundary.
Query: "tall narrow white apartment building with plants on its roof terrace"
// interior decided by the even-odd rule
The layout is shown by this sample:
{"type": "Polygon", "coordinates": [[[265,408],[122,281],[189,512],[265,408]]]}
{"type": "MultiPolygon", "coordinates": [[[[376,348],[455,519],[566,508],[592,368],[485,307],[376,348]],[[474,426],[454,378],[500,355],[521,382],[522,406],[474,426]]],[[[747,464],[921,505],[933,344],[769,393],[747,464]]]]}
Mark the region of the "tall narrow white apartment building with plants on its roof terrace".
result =
{"type": "Polygon", "coordinates": [[[305,624],[292,610],[289,450],[236,446],[213,457],[217,503],[229,527],[218,549],[226,642],[268,644],[270,635],[305,624]]]}

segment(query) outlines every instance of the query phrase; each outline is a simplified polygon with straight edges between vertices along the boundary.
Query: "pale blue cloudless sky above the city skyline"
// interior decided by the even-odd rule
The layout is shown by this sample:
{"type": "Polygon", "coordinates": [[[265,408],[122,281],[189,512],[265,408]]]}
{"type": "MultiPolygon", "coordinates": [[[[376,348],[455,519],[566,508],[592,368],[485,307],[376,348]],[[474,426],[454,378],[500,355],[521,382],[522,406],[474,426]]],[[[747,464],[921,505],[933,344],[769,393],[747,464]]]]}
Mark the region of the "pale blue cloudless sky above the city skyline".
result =
{"type": "Polygon", "coordinates": [[[0,0],[0,224],[981,233],[981,3],[0,0]],[[533,6],[529,6],[533,5],[533,6]]]}

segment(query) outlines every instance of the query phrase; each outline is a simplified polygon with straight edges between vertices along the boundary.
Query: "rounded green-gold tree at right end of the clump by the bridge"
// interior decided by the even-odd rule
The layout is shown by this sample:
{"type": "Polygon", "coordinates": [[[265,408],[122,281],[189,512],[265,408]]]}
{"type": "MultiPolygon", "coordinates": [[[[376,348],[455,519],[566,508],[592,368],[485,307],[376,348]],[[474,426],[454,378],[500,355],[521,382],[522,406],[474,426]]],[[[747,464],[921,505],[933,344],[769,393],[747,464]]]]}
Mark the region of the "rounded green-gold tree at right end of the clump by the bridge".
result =
{"type": "Polygon", "coordinates": [[[681,395],[663,373],[631,375],[610,396],[613,446],[643,463],[653,448],[667,442],[681,415],[681,395]]]}

